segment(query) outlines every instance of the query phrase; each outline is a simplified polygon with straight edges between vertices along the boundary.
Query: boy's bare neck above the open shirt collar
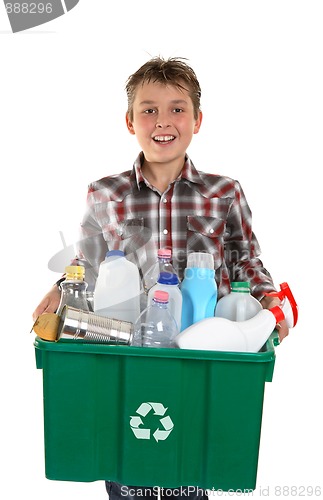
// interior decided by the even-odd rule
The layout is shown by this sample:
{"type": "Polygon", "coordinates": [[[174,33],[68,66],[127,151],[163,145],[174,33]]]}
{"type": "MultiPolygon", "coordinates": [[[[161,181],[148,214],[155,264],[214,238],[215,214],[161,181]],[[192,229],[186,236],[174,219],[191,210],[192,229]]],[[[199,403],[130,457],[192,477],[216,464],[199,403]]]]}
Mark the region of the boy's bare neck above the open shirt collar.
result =
{"type": "Polygon", "coordinates": [[[179,176],[184,165],[184,158],[177,159],[173,163],[152,163],[146,159],[143,162],[141,171],[150,184],[163,193],[175,179],[179,176]]]}

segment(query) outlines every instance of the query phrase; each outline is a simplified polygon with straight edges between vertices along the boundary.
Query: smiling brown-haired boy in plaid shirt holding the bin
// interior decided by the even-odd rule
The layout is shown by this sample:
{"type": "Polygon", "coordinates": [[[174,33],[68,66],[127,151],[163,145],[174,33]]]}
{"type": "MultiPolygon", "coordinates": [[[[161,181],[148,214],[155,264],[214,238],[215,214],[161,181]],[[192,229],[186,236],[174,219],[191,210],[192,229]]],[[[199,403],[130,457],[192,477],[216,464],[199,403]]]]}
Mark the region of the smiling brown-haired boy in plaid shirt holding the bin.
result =
{"type": "MultiPolygon", "coordinates": [[[[123,250],[144,276],[158,248],[168,247],[180,278],[189,252],[208,252],[214,257],[219,298],[229,292],[230,281],[249,281],[264,308],[279,304],[279,299],[264,295],[275,287],[258,258],[260,248],[240,184],[197,171],[187,156],[202,122],[201,89],[192,68],[182,59],[153,58],[129,77],[126,90],[127,128],[142,152],[132,170],[89,187],[78,256],[89,287],[94,287],[108,249],[123,250]]],[[[54,312],[59,300],[54,285],[34,319],[54,312]]],[[[278,329],[282,340],[288,334],[286,323],[278,329]]],[[[127,496],[120,487],[107,483],[111,498],[127,496]]],[[[191,497],[201,495],[199,491],[191,497]]]]}

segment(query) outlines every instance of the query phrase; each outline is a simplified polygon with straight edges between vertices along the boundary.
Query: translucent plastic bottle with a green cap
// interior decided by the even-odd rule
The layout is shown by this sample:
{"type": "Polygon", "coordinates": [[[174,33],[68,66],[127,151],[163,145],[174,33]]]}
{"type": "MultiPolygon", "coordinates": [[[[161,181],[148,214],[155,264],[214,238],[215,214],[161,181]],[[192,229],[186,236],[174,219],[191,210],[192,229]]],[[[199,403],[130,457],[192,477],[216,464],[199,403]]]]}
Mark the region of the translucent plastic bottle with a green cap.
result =
{"type": "Polygon", "coordinates": [[[245,321],[261,310],[259,300],[250,294],[249,283],[234,281],[231,283],[231,293],[218,300],[214,316],[231,319],[231,321],[245,321]]]}

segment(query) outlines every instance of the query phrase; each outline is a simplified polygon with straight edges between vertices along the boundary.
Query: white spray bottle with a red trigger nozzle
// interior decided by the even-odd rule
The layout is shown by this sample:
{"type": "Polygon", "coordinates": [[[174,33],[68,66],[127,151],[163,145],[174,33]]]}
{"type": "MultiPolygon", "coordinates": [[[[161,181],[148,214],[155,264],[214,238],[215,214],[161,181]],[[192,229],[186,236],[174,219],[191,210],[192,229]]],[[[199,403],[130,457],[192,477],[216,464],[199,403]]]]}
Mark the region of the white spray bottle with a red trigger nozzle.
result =
{"type": "Polygon", "coordinates": [[[289,328],[297,323],[298,310],[292,292],[287,283],[280,287],[280,292],[267,295],[278,296],[283,300],[281,306],[263,309],[246,321],[206,318],[183,330],[175,338],[175,343],[181,349],[258,352],[277,323],[285,319],[289,328]]]}

